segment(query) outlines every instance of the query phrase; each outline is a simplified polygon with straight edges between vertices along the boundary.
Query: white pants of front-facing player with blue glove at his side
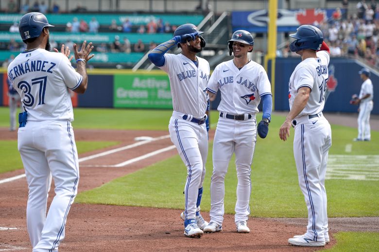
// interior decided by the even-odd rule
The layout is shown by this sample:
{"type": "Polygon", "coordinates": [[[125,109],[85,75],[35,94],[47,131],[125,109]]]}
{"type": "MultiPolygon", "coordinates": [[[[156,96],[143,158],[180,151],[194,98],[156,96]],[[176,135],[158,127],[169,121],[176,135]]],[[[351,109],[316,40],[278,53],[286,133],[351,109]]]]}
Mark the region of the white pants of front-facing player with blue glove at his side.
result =
{"type": "MultiPolygon", "coordinates": [[[[225,113],[226,114],[226,113],[225,113]]],[[[213,141],[213,173],[210,182],[210,220],[224,221],[225,175],[233,152],[236,155],[237,202],[235,222],[247,220],[250,214],[251,163],[257,141],[256,119],[220,118],[213,141]]]]}

